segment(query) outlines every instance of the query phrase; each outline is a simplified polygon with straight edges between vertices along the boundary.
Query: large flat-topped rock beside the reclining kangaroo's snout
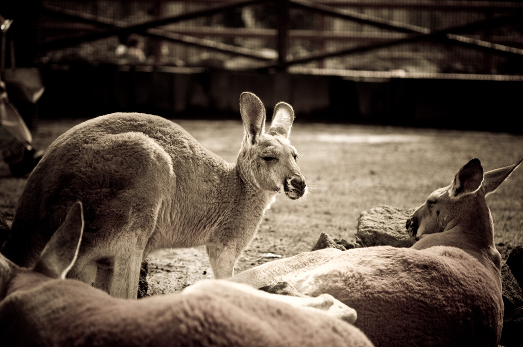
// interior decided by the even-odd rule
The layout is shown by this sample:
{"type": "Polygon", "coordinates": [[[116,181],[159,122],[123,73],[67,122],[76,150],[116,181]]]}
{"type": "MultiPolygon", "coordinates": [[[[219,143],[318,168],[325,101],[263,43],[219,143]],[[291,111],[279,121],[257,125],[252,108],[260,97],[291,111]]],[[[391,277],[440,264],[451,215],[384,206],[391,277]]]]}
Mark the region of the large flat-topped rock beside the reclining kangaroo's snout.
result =
{"type": "Polygon", "coordinates": [[[379,206],[360,214],[356,236],[369,246],[411,247],[415,239],[405,223],[415,209],[379,206]]]}

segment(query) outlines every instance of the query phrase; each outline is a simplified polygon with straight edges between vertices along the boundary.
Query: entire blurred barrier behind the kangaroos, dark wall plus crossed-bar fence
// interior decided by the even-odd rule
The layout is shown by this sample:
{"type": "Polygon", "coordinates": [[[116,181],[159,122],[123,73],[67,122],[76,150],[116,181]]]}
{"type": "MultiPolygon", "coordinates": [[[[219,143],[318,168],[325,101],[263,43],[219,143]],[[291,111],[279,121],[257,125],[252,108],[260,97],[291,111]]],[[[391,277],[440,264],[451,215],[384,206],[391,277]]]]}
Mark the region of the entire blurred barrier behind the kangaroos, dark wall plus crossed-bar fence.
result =
{"type": "Polygon", "coordinates": [[[248,90],[297,121],[523,132],[520,1],[18,0],[0,15],[30,129],[114,111],[237,119],[248,90]]]}

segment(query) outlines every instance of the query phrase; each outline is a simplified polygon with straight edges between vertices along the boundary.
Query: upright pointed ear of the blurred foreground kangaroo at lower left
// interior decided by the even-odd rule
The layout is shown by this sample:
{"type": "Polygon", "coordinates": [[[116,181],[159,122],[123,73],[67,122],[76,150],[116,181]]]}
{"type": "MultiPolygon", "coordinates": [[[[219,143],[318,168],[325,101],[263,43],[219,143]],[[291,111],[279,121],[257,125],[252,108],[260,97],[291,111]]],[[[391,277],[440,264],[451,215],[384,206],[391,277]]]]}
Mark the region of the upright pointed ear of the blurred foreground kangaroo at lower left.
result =
{"type": "Polygon", "coordinates": [[[64,279],[78,256],[83,231],[82,203],[76,202],[67,213],[65,221],[47,242],[33,270],[54,279],[64,279]]]}

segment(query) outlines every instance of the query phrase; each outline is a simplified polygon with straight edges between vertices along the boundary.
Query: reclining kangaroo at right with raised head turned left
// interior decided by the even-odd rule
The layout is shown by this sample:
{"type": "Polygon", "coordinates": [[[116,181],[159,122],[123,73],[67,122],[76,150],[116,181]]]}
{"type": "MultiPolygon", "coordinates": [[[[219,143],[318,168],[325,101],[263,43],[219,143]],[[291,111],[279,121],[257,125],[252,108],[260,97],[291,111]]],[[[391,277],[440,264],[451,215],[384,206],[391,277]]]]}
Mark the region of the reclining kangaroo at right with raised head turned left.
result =
{"type": "Polygon", "coordinates": [[[463,166],[408,219],[411,248],[322,249],[229,279],[255,288],[288,282],[356,309],[376,346],[497,346],[503,324],[501,256],[485,195],[521,163],[483,173],[463,166]]]}

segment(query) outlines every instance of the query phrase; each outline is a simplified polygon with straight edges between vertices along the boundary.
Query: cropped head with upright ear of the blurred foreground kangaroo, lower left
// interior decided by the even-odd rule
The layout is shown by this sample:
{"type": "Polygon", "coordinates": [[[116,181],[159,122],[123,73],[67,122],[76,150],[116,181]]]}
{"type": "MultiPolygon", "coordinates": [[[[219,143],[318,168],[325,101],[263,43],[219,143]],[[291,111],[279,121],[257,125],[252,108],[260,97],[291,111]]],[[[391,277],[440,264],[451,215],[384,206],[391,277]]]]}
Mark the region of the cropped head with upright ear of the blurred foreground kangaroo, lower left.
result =
{"type": "Polygon", "coordinates": [[[65,279],[76,261],[83,228],[82,203],[76,202],[51,236],[33,269],[20,268],[0,254],[0,300],[5,297],[11,279],[18,273],[24,273],[26,281],[30,281],[31,273],[44,274],[51,279],[65,279]]]}

